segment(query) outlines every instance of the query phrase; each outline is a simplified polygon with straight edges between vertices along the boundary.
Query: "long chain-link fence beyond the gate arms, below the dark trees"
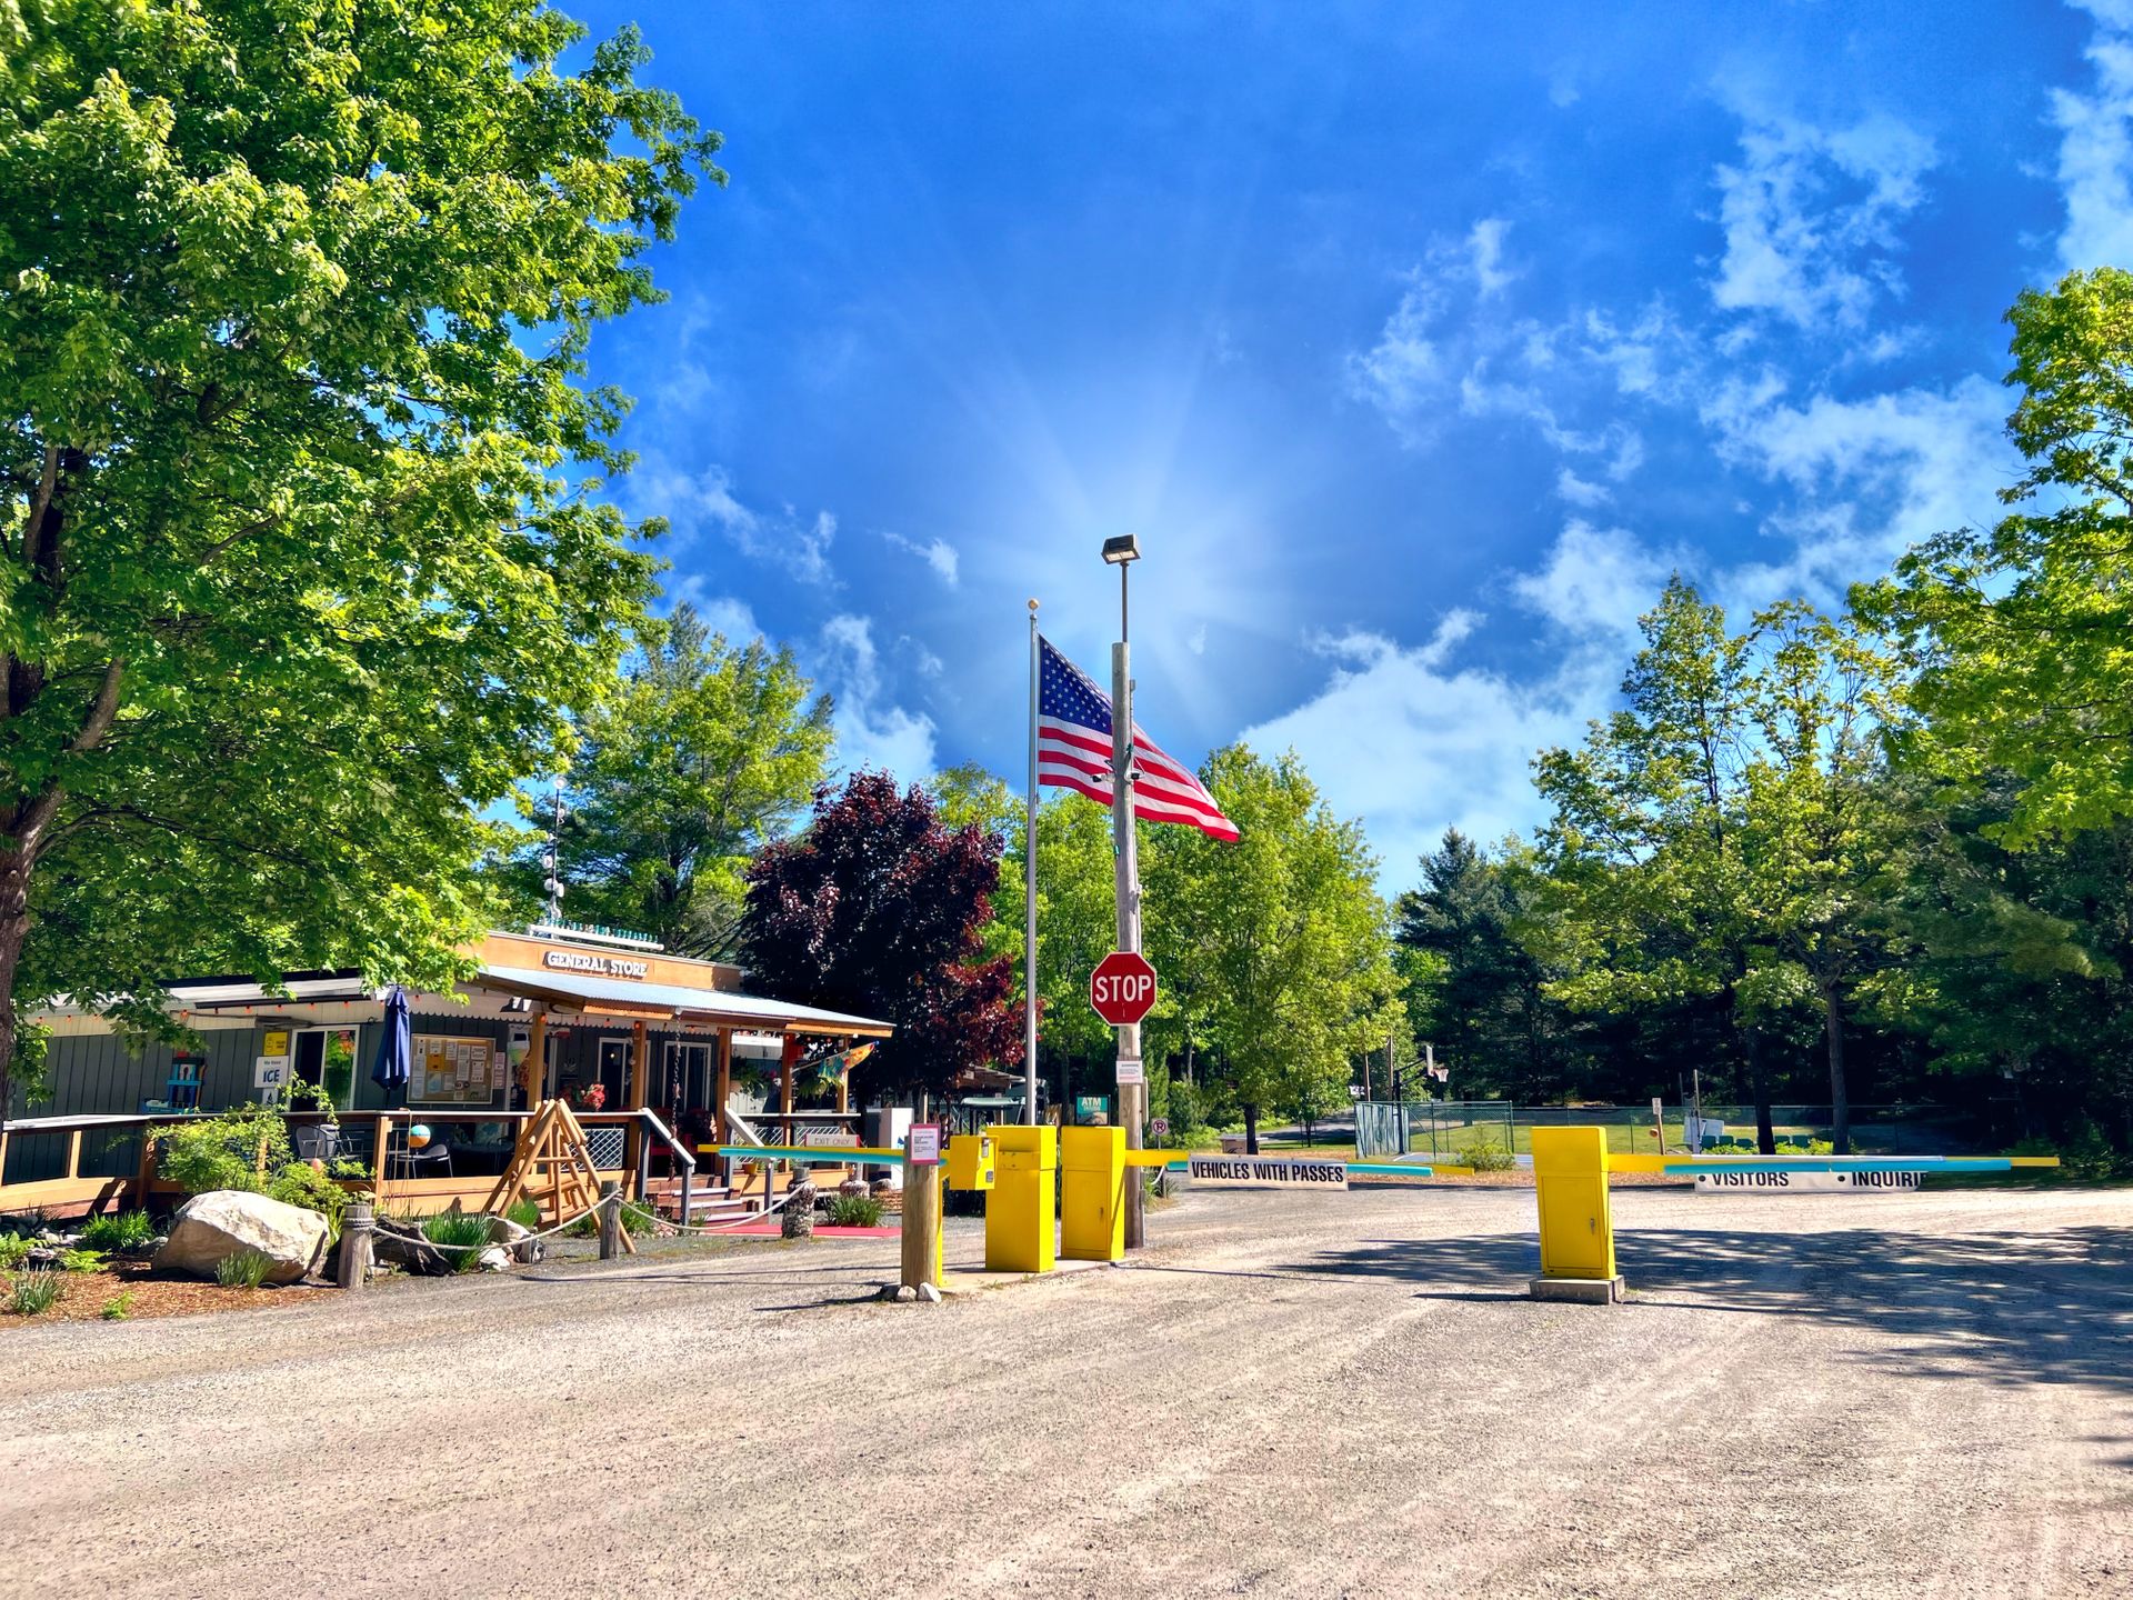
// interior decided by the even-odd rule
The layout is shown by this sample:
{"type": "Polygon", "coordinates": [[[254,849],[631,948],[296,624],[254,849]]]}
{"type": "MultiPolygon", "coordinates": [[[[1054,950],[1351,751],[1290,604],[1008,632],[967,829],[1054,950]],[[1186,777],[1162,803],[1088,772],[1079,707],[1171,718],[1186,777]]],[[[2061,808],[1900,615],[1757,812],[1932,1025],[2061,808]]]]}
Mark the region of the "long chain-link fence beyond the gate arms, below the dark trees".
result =
{"type": "MultiPolygon", "coordinates": [[[[1653,1126],[1651,1105],[1517,1105],[1512,1101],[1363,1101],[1354,1107],[1357,1158],[1384,1161],[1429,1154],[1450,1161],[1476,1143],[1523,1156],[1534,1150],[1534,1129],[1600,1126],[1608,1150],[1645,1152],[1689,1148],[1689,1116],[1700,1116],[1696,1143],[1755,1143],[1753,1105],[1664,1105],[1653,1126]]],[[[1779,1150],[1807,1154],[1832,1141],[1837,1122],[1828,1105],[1773,1105],[1770,1131],[1779,1150]]],[[[1851,1150],[1886,1156],[1999,1154],[2005,1133],[1975,1116],[1937,1105],[1854,1105],[1851,1150]]]]}

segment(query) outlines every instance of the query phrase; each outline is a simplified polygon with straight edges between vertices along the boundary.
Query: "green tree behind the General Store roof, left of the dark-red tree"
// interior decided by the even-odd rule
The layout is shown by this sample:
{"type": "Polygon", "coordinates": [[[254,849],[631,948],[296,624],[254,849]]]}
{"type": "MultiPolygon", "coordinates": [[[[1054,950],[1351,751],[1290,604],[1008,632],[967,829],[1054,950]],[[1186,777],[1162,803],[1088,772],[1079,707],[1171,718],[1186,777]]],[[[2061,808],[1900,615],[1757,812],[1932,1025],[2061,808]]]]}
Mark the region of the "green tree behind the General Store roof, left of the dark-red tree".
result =
{"type": "MultiPolygon", "coordinates": [[[[687,604],[646,623],[621,687],[580,723],[559,875],[574,917],[725,956],[749,860],[798,821],[830,768],[830,698],[791,651],[732,646],[687,604]]],[[[546,796],[520,811],[542,821],[546,796]]],[[[520,864],[538,894],[538,858],[520,864]]]]}

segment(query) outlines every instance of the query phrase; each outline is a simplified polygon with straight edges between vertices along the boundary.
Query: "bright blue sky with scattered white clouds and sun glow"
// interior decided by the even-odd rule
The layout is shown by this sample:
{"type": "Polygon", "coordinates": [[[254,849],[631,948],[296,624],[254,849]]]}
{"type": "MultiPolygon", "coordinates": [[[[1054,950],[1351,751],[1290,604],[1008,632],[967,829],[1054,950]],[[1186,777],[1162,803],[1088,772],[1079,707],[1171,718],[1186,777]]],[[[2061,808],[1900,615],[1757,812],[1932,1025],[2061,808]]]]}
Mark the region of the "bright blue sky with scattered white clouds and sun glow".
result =
{"type": "Polygon", "coordinates": [[[670,591],[840,759],[1022,770],[1024,602],[1297,749],[1389,887],[1531,828],[1670,570],[1745,621],[1994,516],[2001,316],[2133,265],[2133,0],[576,4],[727,147],[606,329],[670,591]]]}

